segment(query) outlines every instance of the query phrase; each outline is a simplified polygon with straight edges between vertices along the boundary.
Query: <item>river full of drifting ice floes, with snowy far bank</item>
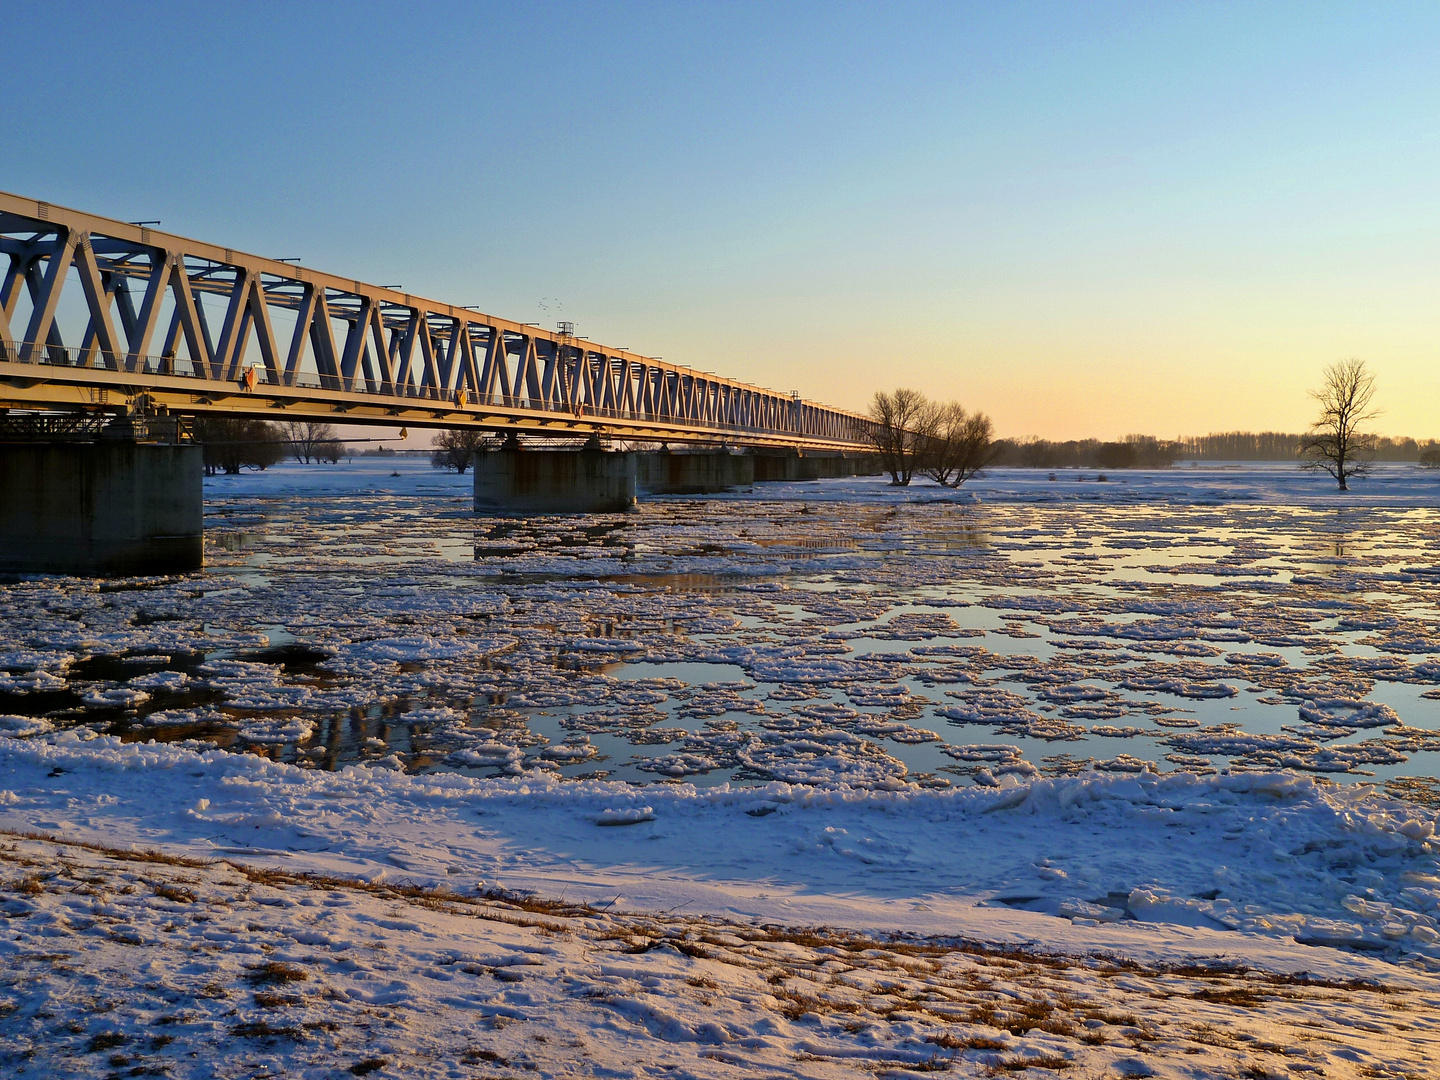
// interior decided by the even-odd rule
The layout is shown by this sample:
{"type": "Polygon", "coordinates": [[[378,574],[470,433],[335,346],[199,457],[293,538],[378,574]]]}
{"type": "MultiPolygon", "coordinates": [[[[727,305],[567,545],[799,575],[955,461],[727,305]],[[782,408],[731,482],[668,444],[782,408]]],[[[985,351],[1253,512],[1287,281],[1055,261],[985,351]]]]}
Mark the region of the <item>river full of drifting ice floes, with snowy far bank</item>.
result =
{"type": "Polygon", "coordinates": [[[1440,478],[1097,475],[528,520],[475,518],[469,478],[416,459],[212,478],[204,573],[0,586],[0,726],[321,769],[899,789],[1282,768],[1434,798],[1440,478]]]}

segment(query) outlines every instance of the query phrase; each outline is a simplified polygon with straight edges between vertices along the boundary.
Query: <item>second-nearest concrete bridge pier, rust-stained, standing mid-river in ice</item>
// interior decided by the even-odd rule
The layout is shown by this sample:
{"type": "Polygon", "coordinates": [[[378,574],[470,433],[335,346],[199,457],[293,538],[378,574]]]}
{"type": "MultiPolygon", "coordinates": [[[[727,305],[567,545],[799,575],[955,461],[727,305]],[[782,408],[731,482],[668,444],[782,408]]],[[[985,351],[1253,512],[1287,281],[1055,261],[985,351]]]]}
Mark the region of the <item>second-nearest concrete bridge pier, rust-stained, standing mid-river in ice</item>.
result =
{"type": "Polygon", "coordinates": [[[634,505],[634,454],[586,446],[475,455],[477,514],[612,514],[634,505]]]}

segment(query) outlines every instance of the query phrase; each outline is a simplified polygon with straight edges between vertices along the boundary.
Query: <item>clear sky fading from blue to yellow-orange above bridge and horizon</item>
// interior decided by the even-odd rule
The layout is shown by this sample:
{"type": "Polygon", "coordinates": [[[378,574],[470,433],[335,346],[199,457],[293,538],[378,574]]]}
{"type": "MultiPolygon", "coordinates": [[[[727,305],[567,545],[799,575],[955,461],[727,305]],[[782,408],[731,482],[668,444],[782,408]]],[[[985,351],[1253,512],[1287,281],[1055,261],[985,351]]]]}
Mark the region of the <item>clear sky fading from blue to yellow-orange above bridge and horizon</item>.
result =
{"type": "Polygon", "coordinates": [[[1004,435],[1440,436],[1440,6],[0,0],[0,189],[1004,435]]]}

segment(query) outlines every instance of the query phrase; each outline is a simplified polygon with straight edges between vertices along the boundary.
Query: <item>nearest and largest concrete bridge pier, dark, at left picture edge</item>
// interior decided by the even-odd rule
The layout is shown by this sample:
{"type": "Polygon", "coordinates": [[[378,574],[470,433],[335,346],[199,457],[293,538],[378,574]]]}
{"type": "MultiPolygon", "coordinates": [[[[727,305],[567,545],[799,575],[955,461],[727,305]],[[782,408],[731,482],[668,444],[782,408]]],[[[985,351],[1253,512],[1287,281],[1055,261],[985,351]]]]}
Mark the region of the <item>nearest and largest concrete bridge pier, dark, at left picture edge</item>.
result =
{"type": "Polygon", "coordinates": [[[115,420],[88,439],[0,429],[0,572],[187,573],[204,563],[200,446],[137,438],[115,420]]]}

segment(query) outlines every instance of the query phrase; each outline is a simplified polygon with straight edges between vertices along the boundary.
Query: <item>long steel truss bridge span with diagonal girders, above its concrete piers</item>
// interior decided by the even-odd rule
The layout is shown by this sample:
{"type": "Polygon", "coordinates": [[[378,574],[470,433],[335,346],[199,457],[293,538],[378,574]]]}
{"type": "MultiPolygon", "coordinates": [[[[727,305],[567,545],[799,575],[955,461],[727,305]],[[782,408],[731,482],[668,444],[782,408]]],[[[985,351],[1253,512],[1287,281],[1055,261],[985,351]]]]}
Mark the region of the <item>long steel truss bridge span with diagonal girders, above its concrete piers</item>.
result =
{"type": "Polygon", "coordinates": [[[873,445],[795,395],[3,192],[0,253],[3,408],[873,445]]]}

